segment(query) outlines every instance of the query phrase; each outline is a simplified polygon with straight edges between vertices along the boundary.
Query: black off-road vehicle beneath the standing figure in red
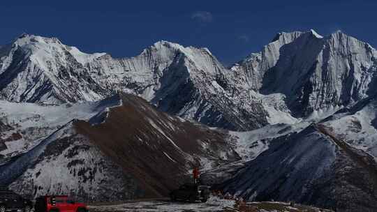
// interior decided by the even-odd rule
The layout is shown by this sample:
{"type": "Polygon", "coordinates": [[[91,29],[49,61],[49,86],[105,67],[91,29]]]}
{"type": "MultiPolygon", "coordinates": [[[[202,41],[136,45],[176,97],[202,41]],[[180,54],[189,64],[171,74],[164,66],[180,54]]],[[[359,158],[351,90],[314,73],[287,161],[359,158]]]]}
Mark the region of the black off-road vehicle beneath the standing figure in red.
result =
{"type": "Polygon", "coordinates": [[[181,185],[177,190],[170,192],[170,199],[172,199],[172,201],[188,200],[190,202],[196,202],[200,200],[201,202],[207,202],[209,193],[209,187],[206,185],[186,183],[181,185]]]}

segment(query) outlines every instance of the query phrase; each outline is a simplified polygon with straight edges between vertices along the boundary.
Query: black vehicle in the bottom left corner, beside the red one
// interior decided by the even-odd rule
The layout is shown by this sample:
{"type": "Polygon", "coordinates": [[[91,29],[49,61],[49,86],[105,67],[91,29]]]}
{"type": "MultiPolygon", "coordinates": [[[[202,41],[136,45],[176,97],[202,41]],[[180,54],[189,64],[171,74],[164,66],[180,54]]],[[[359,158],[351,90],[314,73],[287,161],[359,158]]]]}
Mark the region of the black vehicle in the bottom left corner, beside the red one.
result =
{"type": "Polygon", "coordinates": [[[0,190],[0,212],[24,211],[29,212],[33,208],[33,203],[29,199],[24,199],[11,190],[0,190]]]}

